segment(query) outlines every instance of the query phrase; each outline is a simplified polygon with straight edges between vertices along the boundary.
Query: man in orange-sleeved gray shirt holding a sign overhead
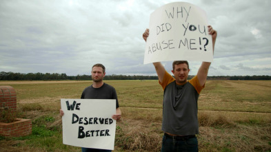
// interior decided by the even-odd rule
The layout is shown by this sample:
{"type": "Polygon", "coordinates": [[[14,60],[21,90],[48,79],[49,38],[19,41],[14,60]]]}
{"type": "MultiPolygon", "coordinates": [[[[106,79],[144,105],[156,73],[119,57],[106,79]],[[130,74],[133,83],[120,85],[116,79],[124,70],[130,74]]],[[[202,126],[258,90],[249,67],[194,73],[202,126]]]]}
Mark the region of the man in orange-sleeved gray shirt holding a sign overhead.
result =
{"type": "MultiPolygon", "coordinates": [[[[212,47],[217,39],[217,31],[208,26],[212,35],[212,47]]],[[[149,30],[143,33],[146,41],[149,30]]],[[[188,61],[174,61],[172,63],[172,77],[159,63],[153,63],[159,84],[163,87],[163,122],[164,131],[161,151],[198,151],[196,134],[199,134],[197,118],[197,101],[201,89],[205,87],[208,69],[211,63],[203,62],[197,76],[188,79],[190,72],[188,61]]]]}

